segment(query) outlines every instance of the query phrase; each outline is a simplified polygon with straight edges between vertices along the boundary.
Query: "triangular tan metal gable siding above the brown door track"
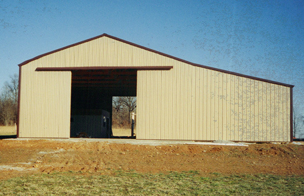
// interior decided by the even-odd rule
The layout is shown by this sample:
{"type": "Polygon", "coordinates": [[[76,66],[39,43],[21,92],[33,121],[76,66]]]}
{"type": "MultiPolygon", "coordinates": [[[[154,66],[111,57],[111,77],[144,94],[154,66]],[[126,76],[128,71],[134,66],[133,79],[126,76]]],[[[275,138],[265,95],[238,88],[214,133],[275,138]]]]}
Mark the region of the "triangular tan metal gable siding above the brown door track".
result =
{"type": "Polygon", "coordinates": [[[38,61],[41,62],[38,67],[126,67],[166,66],[172,64],[173,60],[103,36],[35,60],[38,61]]]}

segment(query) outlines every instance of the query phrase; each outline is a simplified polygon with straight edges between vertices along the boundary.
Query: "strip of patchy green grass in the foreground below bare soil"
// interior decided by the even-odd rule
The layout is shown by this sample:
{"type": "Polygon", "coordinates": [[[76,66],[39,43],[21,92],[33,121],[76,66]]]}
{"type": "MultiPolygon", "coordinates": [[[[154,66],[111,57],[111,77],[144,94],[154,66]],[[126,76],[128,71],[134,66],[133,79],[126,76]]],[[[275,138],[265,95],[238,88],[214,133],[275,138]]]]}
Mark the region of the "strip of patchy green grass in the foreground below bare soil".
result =
{"type": "Polygon", "coordinates": [[[303,195],[304,177],[231,175],[197,171],[113,175],[73,172],[33,175],[0,181],[1,194],[54,195],[303,195]]]}

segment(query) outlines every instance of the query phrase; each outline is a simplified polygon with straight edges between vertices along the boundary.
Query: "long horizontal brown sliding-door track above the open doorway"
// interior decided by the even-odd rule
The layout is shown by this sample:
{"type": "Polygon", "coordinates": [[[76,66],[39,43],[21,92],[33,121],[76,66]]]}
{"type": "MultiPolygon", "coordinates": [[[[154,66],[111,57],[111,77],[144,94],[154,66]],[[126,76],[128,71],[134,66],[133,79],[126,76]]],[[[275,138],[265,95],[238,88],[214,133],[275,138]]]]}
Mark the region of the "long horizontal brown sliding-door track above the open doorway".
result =
{"type": "Polygon", "coordinates": [[[102,70],[102,69],[138,69],[138,70],[169,70],[173,66],[136,66],[136,67],[37,67],[36,71],[72,71],[72,70],[102,70]]]}

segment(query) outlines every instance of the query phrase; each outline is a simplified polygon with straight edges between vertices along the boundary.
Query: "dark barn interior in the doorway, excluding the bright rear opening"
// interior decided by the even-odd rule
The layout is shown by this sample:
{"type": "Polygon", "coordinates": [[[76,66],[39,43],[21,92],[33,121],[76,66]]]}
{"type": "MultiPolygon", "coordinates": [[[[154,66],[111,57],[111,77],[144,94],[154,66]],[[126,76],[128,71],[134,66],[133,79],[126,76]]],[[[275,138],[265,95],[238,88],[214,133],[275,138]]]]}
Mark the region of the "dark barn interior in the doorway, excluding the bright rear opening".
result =
{"type": "Polygon", "coordinates": [[[136,69],[73,70],[70,137],[113,137],[112,98],[136,97],[136,81],[136,69]]]}

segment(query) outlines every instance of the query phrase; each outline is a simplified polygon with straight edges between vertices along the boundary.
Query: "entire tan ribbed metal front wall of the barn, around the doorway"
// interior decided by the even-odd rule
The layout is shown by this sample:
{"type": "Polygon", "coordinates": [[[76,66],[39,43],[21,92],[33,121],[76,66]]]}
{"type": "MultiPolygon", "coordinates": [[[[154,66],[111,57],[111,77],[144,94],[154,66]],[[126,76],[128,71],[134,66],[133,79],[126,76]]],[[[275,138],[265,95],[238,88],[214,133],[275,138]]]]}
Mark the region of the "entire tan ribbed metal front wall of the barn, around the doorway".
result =
{"type": "Polygon", "coordinates": [[[90,66],[173,66],[138,70],[138,139],[290,141],[290,87],[193,66],[107,36],[21,66],[19,137],[70,133],[71,72],[35,69],[90,66]]]}

